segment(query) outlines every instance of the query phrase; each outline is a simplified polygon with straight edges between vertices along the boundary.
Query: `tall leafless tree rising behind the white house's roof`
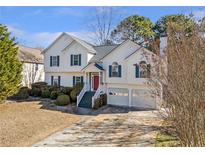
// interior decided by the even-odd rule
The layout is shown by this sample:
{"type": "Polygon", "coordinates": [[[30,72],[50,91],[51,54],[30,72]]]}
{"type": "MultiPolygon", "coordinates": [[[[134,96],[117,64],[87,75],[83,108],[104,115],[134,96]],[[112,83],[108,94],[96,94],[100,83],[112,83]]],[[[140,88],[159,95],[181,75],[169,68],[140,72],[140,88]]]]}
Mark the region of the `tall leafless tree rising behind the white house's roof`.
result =
{"type": "Polygon", "coordinates": [[[97,45],[112,44],[110,37],[111,30],[113,28],[114,20],[114,8],[113,7],[97,7],[95,13],[92,15],[92,23],[90,26],[94,32],[92,39],[97,45]]]}

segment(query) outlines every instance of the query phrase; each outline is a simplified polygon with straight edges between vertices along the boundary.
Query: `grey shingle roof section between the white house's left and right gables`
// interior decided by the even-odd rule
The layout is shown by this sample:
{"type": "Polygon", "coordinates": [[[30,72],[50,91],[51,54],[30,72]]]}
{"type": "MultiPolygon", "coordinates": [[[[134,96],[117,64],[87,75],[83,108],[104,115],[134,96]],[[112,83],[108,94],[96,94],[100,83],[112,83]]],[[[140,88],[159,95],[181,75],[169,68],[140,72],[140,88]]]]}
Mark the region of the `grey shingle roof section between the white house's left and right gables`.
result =
{"type": "Polygon", "coordinates": [[[97,53],[91,58],[90,62],[99,62],[101,58],[110,53],[118,45],[103,45],[103,46],[94,46],[93,48],[97,53]]]}

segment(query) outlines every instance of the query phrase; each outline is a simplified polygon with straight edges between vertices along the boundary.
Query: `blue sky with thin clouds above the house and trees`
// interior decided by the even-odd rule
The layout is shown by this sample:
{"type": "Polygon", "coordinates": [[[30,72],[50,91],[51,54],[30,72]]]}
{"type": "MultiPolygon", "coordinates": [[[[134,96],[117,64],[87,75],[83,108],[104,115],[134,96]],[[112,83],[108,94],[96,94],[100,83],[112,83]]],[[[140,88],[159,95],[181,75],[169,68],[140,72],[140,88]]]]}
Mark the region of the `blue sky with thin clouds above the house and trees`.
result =
{"type": "MultiPolygon", "coordinates": [[[[69,32],[87,41],[92,32],[89,27],[93,15],[100,7],[0,7],[0,23],[8,26],[20,44],[48,46],[60,32],[69,32]]],[[[168,14],[193,13],[205,16],[205,7],[114,7],[115,24],[130,15],[142,15],[156,22],[168,14]]]]}

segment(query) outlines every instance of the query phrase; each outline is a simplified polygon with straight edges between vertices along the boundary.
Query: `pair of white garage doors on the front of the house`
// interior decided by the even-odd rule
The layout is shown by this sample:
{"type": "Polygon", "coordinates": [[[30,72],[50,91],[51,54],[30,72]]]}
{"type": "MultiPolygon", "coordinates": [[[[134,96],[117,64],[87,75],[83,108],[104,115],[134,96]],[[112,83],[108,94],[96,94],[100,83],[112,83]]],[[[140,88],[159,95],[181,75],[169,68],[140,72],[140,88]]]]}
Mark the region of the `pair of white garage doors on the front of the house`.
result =
{"type": "Polygon", "coordinates": [[[108,104],[156,109],[156,96],[149,89],[110,87],[108,88],[108,104]]]}

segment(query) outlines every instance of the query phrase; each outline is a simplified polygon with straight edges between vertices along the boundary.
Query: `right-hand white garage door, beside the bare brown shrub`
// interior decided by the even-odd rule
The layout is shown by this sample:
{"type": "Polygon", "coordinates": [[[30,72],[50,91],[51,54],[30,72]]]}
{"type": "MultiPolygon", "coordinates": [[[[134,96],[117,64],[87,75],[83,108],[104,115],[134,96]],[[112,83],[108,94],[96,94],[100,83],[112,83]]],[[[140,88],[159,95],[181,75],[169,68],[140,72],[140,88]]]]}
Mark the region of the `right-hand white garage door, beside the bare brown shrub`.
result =
{"type": "Polygon", "coordinates": [[[131,106],[155,109],[156,97],[148,89],[133,89],[131,106]]]}

